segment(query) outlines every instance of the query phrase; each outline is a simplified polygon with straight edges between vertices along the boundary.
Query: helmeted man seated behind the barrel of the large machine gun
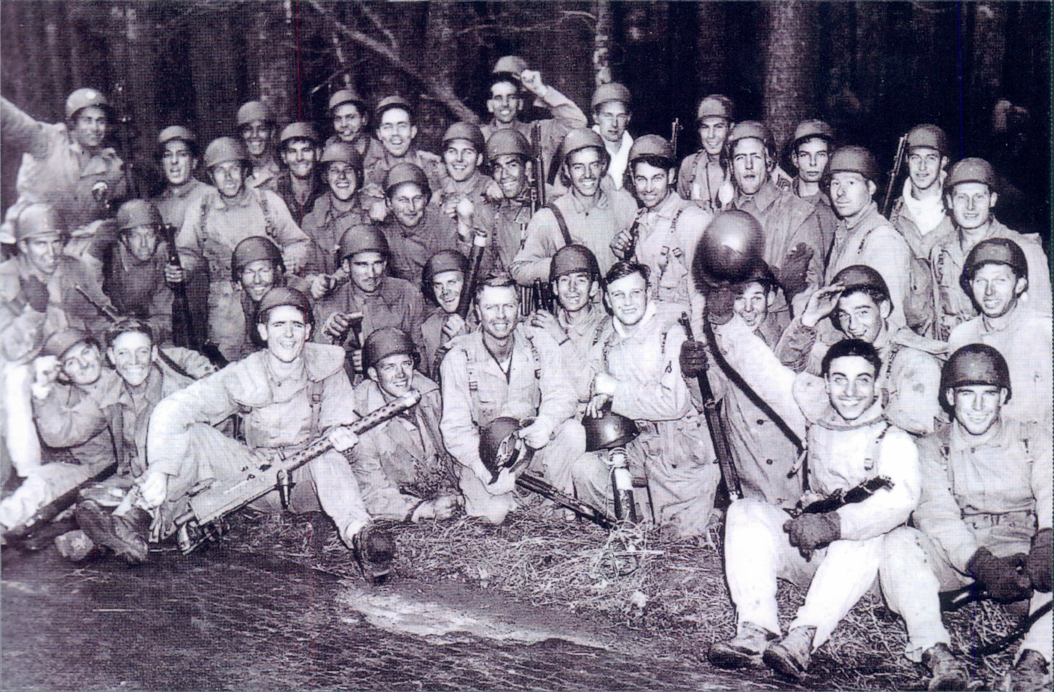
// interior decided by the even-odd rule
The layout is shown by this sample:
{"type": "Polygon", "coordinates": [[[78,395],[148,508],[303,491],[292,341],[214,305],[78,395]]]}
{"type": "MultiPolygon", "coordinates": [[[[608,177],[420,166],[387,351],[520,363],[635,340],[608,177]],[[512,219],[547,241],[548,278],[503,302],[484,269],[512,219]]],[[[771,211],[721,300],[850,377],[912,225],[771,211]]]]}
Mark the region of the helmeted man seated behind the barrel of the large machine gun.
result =
{"type": "Polygon", "coordinates": [[[379,329],[363,344],[369,379],[355,388],[355,413],[365,416],[407,392],[421,401],[359,437],[351,470],[374,519],[449,519],[462,505],[454,460],[443,447],[440,388],[416,372],[417,347],[406,332],[379,329]]]}

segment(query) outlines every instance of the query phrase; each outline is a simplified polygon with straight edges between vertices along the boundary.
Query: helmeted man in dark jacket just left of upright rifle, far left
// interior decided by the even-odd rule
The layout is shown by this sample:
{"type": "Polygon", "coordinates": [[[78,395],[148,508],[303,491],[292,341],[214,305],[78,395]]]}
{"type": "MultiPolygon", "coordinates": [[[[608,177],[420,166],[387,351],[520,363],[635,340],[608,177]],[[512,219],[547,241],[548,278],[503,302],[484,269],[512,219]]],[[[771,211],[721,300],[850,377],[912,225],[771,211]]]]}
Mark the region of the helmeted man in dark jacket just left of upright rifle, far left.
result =
{"type": "Polygon", "coordinates": [[[121,315],[147,320],[158,342],[172,339],[170,284],[184,273],[169,263],[161,214],[153,202],[133,199],[117,210],[118,242],[103,262],[102,292],[121,315]]]}

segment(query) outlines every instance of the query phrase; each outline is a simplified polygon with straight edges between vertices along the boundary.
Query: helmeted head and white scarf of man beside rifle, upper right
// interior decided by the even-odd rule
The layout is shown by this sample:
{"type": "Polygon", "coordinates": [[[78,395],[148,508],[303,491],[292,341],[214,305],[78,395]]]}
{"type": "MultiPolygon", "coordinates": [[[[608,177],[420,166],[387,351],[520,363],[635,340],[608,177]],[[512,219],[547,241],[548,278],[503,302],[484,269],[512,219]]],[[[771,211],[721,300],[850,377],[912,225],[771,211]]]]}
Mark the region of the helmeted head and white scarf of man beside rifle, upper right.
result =
{"type": "Polygon", "coordinates": [[[906,135],[907,177],[893,204],[890,223],[900,231],[916,257],[929,260],[934,241],[952,228],[944,210],[948,135],[937,125],[915,125],[906,135]]]}

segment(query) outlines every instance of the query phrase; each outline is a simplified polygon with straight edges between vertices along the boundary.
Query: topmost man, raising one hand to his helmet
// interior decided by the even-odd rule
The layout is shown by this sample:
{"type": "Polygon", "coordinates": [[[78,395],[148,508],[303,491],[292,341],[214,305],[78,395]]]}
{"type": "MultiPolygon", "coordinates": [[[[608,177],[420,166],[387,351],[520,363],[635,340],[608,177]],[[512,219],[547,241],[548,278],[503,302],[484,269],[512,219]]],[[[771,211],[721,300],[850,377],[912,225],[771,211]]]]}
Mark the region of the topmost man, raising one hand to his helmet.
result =
{"type": "Polygon", "coordinates": [[[487,111],[493,118],[481,126],[484,138],[490,141],[490,137],[502,130],[511,128],[519,132],[531,143],[534,147],[533,153],[543,161],[542,167],[545,170],[534,172],[534,175],[542,180],[549,179],[547,166],[567,133],[588,124],[585,114],[574,101],[551,85],[545,84],[542,81],[542,73],[528,70],[526,60],[511,55],[499,59],[494,64],[487,111]],[[520,112],[524,107],[525,91],[533,95],[534,107],[548,110],[552,117],[522,122],[520,112]]]}

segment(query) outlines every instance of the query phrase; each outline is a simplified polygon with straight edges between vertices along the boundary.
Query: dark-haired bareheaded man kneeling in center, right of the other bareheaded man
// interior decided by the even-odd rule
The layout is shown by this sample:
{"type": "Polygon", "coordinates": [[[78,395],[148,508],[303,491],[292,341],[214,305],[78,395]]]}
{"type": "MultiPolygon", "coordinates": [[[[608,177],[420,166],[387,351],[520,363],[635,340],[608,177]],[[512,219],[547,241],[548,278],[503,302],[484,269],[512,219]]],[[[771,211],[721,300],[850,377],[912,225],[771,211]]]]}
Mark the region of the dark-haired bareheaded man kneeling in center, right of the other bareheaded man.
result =
{"type": "MultiPolygon", "coordinates": [[[[593,391],[586,415],[600,417],[610,407],[637,421],[641,434],[626,452],[630,471],[647,477],[656,520],[677,536],[703,535],[721,473],[706,421],[681,376],[682,310],[651,300],[644,264],[616,262],[604,282],[612,331],[586,363],[593,391]]],[[[608,475],[598,468],[604,468],[599,454],[585,454],[577,469],[586,482],[575,490],[594,506],[611,507],[608,475]]]]}

